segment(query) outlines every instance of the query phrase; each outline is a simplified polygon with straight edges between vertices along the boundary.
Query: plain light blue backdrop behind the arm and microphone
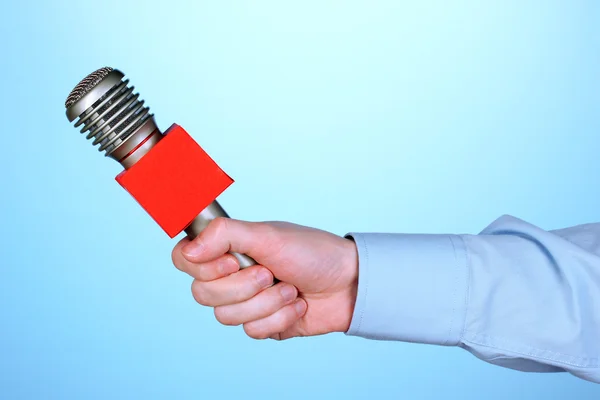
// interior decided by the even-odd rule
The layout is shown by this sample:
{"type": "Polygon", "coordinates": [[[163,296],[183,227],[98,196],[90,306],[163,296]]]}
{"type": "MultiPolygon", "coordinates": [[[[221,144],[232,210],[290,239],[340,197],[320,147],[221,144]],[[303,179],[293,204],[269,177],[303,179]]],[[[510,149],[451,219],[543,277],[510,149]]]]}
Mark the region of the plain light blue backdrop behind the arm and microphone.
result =
{"type": "Polygon", "coordinates": [[[236,218],[596,222],[599,4],[2,2],[0,398],[598,398],[456,348],[220,326],[64,100],[124,71],[236,180],[220,197],[236,218]]]}

